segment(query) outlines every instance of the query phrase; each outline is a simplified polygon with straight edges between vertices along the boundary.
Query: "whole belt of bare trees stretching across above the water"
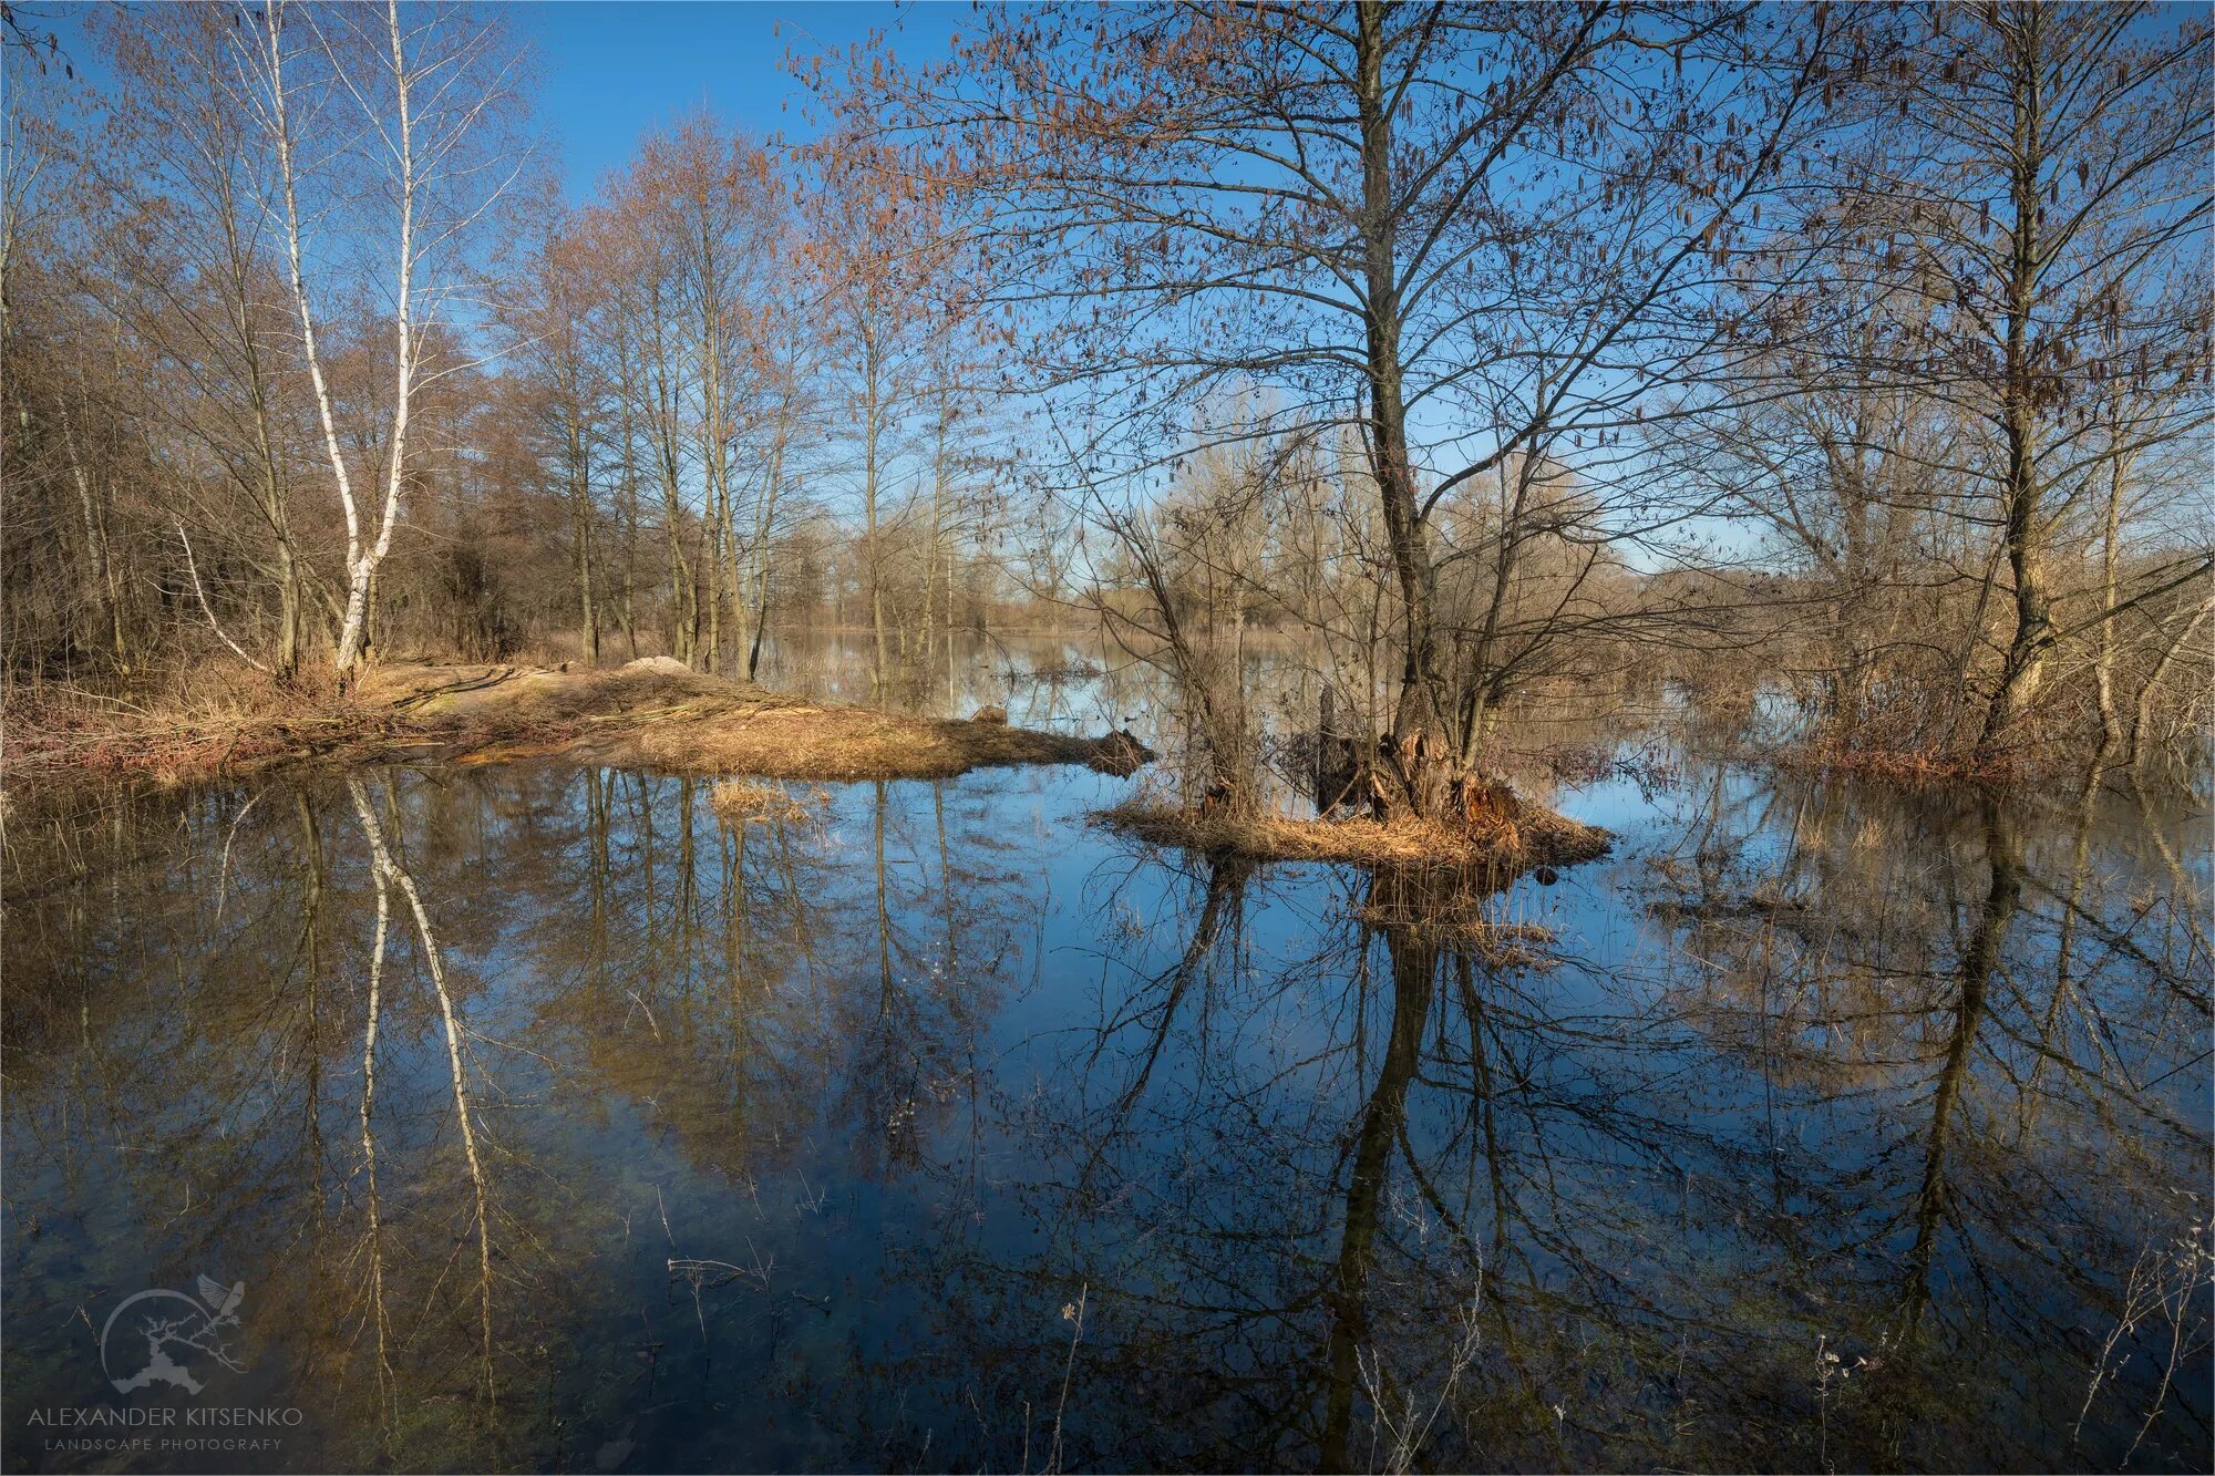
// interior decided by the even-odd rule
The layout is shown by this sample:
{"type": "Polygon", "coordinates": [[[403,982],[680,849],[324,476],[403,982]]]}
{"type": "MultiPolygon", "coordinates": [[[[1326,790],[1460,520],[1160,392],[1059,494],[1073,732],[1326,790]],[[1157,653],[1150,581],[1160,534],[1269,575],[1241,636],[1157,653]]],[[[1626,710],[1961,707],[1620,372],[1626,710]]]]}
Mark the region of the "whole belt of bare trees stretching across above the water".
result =
{"type": "Polygon", "coordinates": [[[983,9],[585,202],[514,18],[7,7],[13,720],[1070,621],[1229,800],[1263,632],[1384,811],[1626,674],[2204,754],[2195,9],[983,9]]]}

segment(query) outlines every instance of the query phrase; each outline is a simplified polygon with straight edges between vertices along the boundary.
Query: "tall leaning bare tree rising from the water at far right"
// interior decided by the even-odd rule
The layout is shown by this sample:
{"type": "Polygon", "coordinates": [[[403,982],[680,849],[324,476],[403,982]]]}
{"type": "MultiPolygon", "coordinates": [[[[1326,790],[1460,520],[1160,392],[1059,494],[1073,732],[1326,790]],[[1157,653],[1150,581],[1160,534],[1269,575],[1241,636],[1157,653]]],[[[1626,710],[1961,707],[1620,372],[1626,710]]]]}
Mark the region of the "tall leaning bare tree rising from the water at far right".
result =
{"type": "MultiPolygon", "coordinates": [[[[1912,146],[1850,188],[1934,299],[1887,368],[1991,441],[1962,465],[2013,596],[1985,756],[2033,714],[2064,634],[2056,534],[2133,459],[2206,423],[2177,390],[2208,363],[2208,47],[2204,20],[2162,33],[2142,7],[1931,9],[1896,66],[1912,146]]],[[[2191,552],[2146,590],[2208,567],[2191,552]]]]}

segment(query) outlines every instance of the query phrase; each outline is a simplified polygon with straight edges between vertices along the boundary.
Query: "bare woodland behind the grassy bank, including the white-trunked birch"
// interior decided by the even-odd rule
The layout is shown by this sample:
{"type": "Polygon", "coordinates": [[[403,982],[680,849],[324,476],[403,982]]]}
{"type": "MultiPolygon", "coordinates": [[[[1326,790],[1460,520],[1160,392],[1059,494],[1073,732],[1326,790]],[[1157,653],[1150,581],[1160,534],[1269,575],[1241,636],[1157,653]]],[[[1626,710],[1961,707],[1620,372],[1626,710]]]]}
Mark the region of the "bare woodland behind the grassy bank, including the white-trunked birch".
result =
{"type": "Polygon", "coordinates": [[[773,616],[873,629],[882,674],[1028,614],[959,255],[855,135],[696,115],[569,206],[496,11],[117,9],[73,38],[102,86],[24,35],[11,680],[751,676],[773,616]]]}

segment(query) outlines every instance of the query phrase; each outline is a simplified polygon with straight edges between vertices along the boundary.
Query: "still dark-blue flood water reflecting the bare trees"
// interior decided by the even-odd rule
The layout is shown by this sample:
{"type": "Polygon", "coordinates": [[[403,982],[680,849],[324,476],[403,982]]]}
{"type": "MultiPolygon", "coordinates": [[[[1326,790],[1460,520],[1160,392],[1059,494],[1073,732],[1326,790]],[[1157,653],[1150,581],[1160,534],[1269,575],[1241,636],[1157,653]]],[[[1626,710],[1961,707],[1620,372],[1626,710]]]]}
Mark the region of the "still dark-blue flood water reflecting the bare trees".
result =
{"type": "Polygon", "coordinates": [[[2204,809],[1644,742],[1488,931],[1083,769],[33,809],[4,1463],[2208,1469],[2204,809]]]}

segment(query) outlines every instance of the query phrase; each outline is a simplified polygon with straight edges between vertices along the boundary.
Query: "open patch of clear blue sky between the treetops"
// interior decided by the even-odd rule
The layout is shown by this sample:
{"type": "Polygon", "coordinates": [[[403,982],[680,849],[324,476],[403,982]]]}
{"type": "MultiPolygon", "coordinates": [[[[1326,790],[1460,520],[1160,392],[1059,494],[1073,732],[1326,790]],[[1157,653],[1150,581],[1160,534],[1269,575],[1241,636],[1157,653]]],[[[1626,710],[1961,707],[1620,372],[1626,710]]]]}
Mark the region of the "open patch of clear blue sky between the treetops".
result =
{"type": "Polygon", "coordinates": [[[702,104],[758,133],[804,140],[813,131],[784,71],[789,51],[844,51],[877,29],[902,58],[937,58],[968,13],[946,2],[824,0],[571,0],[507,11],[536,44],[540,122],[558,137],[571,199],[618,168],[640,133],[702,104]]]}

